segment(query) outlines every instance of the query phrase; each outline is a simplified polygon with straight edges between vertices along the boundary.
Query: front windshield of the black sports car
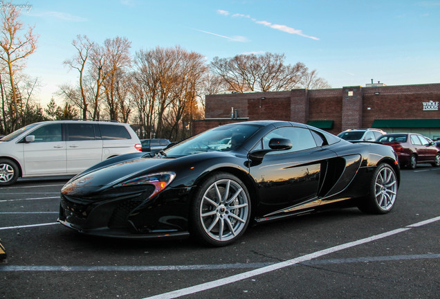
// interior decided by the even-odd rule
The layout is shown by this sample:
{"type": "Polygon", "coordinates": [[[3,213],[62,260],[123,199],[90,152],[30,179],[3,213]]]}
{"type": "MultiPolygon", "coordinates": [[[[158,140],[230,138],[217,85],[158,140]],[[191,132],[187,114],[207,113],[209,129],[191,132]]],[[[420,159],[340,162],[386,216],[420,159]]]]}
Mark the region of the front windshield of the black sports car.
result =
{"type": "Polygon", "coordinates": [[[185,156],[201,152],[228,152],[243,144],[260,127],[239,124],[217,127],[174,145],[165,153],[167,156],[185,156]]]}

